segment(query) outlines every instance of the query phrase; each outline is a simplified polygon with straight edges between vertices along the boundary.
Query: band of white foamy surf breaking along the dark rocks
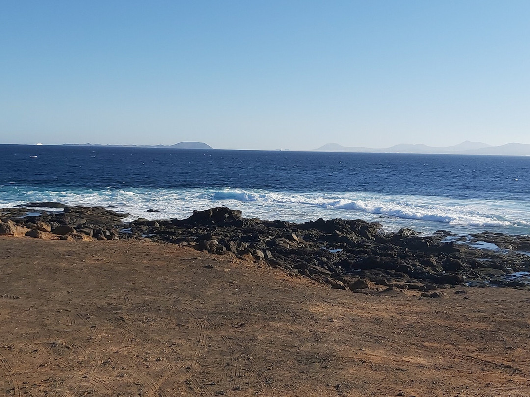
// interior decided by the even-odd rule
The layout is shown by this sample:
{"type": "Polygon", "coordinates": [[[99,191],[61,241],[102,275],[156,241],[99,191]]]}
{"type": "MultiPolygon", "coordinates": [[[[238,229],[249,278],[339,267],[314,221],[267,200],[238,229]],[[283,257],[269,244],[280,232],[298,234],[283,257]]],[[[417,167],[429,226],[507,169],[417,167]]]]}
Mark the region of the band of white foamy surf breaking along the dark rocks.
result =
{"type": "Polygon", "coordinates": [[[127,220],[186,218],[193,210],[228,206],[245,217],[306,221],[316,218],[363,218],[382,221],[389,230],[530,233],[526,202],[456,200],[447,197],[384,195],[366,192],[269,192],[245,189],[87,189],[43,190],[0,186],[0,206],[57,201],[67,205],[116,205],[127,220]],[[160,212],[146,212],[148,209],[160,212]],[[448,225],[445,227],[444,225],[448,225]],[[465,230],[463,230],[464,228],[465,230]]]}

